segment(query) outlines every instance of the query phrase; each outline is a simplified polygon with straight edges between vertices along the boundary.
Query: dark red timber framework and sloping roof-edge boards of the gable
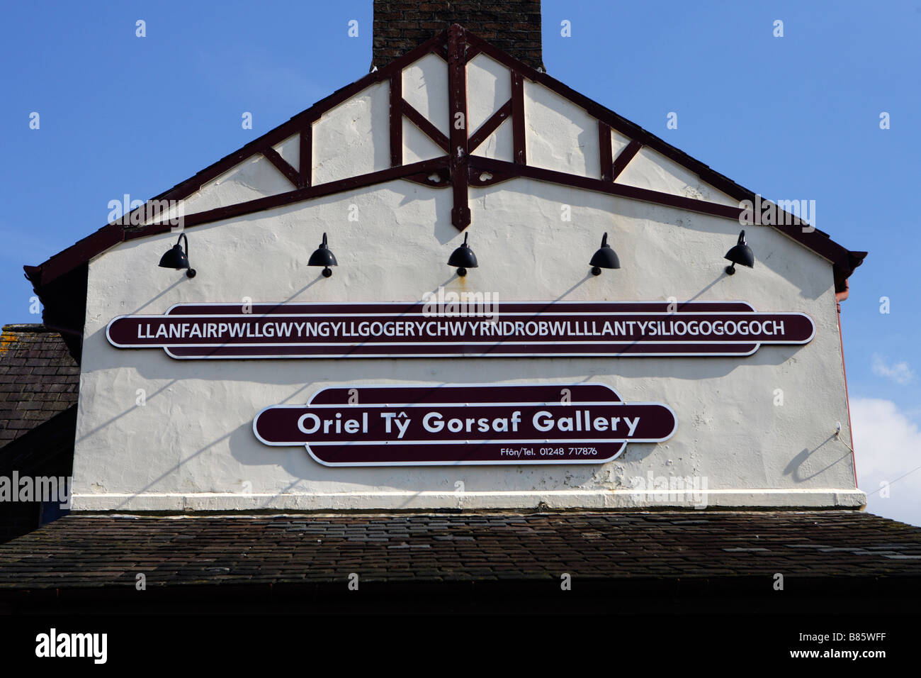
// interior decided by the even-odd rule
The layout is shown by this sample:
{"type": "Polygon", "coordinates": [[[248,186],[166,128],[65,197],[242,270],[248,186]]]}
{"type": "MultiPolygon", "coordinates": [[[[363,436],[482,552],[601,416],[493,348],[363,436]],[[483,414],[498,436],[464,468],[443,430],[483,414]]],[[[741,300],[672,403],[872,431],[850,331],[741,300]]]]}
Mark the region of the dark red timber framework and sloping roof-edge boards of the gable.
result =
{"type": "MultiPolygon", "coordinates": [[[[711,170],[707,165],[694,160],[679,149],[650,134],[642,127],[624,119],[617,113],[566,87],[562,82],[524,65],[508,54],[484,42],[461,26],[452,26],[431,40],[422,43],[411,52],[388,65],[367,74],[356,82],[339,89],[326,99],[317,102],[309,109],[298,113],[283,125],[255,139],[251,143],[228,155],[215,164],[198,172],[190,179],[177,184],[152,200],[181,200],[198,191],[204,184],[216,179],[235,165],[261,154],[271,162],[291,183],[291,190],[274,196],[260,197],[236,205],[208,209],[188,214],[183,217],[185,228],[200,224],[279,208],[293,203],[310,200],[315,197],[329,196],[343,191],[354,190],[396,179],[412,181],[432,187],[451,187],[453,208],[451,222],[460,231],[471,223],[471,211],[468,202],[470,187],[485,186],[504,182],[509,179],[525,177],[552,184],[562,184],[575,188],[642,200],[657,205],[690,210],[703,214],[715,215],[726,219],[738,220],[742,209],[692,197],[674,196],[659,191],[637,188],[617,183],[617,177],[627,164],[643,147],[654,149],[675,161],[682,167],[697,174],[702,181],[738,200],[754,200],[752,191],[735,184],[727,177],[711,170]],[[449,92],[449,136],[443,134],[432,121],[419,113],[402,96],[402,71],[406,66],[426,56],[437,54],[448,63],[449,92]],[[477,54],[486,54],[510,71],[511,98],[489,117],[483,125],[472,132],[467,125],[467,64],[477,54]],[[525,134],[524,81],[541,84],[556,94],[584,109],[598,120],[598,137],[600,146],[600,167],[598,178],[543,169],[528,164],[525,134]],[[323,184],[314,184],[311,177],[311,151],[313,124],[324,113],[355,96],[363,89],[380,83],[390,85],[390,160],[391,167],[377,172],[368,172],[358,176],[347,177],[323,184]],[[426,161],[404,163],[402,160],[402,121],[409,120],[418,127],[426,137],[445,151],[445,155],[426,161]],[[513,156],[512,161],[499,161],[474,155],[474,151],[485,139],[495,132],[500,125],[511,120],[513,156]],[[626,147],[612,158],[612,130],[630,139],[626,147]],[[273,147],[293,135],[299,135],[300,161],[295,169],[273,147]]],[[[138,210],[145,210],[145,207],[138,210]]],[[[143,213],[143,212],[142,212],[143,213]]],[[[132,213],[134,214],[134,212],[132,213]]],[[[834,279],[838,289],[844,289],[844,281],[866,256],[865,252],[851,252],[840,244],[834,243],[824,232],[803,230],[790,215],[791,225],[770,224],[787,236],[809,247],[825,257],[834,265],[834,279]]],[[[157,222],[148,225],[131,225],[131,215],[121,221],[112,222],[92,233],[83,240],[68,247],[63,252],[52,256],[40,266],[26,266],[27,278],[37,291],[48,290],[48,286],[65,274],[85,265],[89,259],[105,252],[110,247],[135,238],[169,232],[169,222],[157,222]]]]}

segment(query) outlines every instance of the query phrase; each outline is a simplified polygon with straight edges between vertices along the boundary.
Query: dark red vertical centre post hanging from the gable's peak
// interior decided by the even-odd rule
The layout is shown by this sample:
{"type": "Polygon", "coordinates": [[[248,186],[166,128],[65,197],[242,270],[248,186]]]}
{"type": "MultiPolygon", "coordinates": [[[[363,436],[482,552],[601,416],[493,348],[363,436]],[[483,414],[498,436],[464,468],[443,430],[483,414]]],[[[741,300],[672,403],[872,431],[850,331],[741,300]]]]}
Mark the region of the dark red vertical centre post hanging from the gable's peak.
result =
{"type": "Polygon", "coordinates": [[[467,166],[470,151],[467,148],[467,66],[464,59],[466,41],[464,30],[457,24],[448,30],[448,104],[450,130],[451,184],[454,190],[454,207],[451,223],[463,231],[470,225],[470,205],[467,196],[467,166]],[[459,125],[458,122],[462,121],[459,125]]]}

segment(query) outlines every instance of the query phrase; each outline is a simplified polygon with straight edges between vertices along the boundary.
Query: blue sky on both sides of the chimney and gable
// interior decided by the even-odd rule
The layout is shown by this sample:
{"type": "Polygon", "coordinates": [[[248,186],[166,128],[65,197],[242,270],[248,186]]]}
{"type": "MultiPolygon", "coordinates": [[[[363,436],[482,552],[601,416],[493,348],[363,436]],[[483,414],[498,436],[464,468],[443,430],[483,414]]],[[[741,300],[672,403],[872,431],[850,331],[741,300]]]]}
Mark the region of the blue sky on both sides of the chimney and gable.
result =
{"type": "MultiPolygon", "coordinates": [[[[22,265],[99,229],[110,200],[155,196],[367,73],[371,7],[7,3],[0,319],[38,321],[22,265]],[[135,37],[137,19],[145,38],[135,37]],[[244,111],[252,130],[241,128],[244,111]]],[[[862,455],[874,456],[866,468],[881,464],[861,486],[871,492],[921,466],[921,235],[909,208],[919,193],[921,1],[544,0],[542,16],[551,75],[752,191],[815,200],[822,231],[869,250],[842,314],[852,410],[863,403],[867,422],[858,472],[862,455]],[[666,128],[669,112],[678,129],[666,128]],[[883,112],[890,129],[880,129],[883,112]],[[879,421],[883,410],[891,422],[879,421]]],[[[916,496],[921,470],[891,492],[870,508],[888,515],[900,492],[916,496]]],[[[921,523],[916,509],[901,512],[921,523]]]]}

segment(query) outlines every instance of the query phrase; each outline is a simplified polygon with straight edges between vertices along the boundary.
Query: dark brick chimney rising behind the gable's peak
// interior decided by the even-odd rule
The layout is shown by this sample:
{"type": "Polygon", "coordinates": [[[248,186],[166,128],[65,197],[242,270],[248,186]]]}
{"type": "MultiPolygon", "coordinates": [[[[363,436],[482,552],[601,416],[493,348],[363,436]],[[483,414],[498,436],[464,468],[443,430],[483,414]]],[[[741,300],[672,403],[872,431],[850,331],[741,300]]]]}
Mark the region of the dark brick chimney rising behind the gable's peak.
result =
{"type": "Polygon", "coordinates": [[[374,0],[372,68],[389,64],[451,24],[543,70],[541,0],[374,0]]]}

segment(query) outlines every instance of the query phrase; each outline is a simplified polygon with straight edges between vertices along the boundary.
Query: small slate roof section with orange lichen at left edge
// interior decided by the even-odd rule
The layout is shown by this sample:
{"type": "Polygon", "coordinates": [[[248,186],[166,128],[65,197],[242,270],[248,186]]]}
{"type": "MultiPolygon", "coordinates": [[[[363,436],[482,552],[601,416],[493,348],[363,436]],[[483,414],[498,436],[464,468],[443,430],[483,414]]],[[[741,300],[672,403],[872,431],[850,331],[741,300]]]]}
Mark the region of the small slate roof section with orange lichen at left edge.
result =
{"type": "Polygon", "coordinates": [[[80,368],[43,325],[5,325],[0,338],[0,448],[76,405],[80,368]]]}

